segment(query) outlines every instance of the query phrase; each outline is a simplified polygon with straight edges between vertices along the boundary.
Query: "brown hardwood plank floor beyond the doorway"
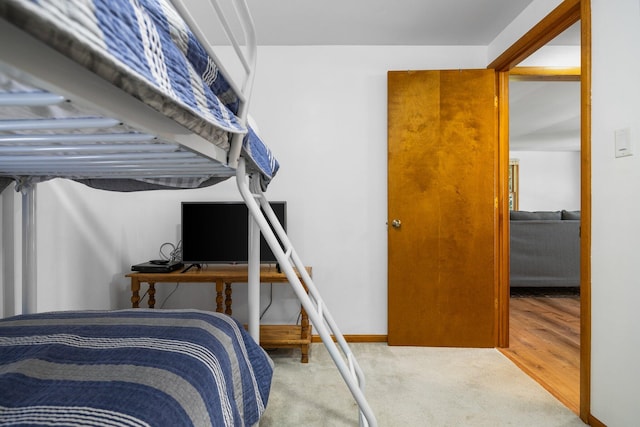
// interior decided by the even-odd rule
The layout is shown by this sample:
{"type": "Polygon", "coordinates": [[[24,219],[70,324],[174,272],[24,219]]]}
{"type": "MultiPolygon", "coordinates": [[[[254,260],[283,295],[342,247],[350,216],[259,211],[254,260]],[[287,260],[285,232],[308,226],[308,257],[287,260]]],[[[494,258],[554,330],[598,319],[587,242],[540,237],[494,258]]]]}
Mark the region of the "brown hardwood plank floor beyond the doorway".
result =
{"type": "Polygon", "coordinates": [[[512,296],[509,323],[502,353],[579,414],[580,297],[512,296]]]}

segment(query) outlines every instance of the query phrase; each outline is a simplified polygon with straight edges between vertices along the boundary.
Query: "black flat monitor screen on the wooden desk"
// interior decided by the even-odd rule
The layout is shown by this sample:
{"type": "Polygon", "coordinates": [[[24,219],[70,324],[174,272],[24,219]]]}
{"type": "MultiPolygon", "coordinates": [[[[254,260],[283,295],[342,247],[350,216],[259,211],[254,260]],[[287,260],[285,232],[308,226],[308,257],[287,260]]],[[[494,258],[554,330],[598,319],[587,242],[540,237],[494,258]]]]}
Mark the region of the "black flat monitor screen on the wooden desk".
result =
{"type": "MultiPolygon", "coordinates": [[[[270,202],[286,230],[286,202],[270,202]]],[[[182,262],[185,264],[246,264],[249,210],[243,202],[183,202],[182,262]]],[[[260,236],[260,262],[276,257],[260,236]]]]}

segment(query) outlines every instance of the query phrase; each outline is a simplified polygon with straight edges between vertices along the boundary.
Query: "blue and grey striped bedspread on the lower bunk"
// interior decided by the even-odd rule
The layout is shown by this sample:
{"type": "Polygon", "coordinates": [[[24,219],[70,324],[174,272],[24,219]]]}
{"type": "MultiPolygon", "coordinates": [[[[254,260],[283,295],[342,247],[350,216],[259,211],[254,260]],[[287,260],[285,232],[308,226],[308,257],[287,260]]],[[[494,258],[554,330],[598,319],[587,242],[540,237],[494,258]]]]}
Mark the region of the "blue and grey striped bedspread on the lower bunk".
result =
{"type": "Polygon", "coordinates": [[[250,426],[273,362],[233,318],[71,311],[0,320],[0,425],[250,426]]]}

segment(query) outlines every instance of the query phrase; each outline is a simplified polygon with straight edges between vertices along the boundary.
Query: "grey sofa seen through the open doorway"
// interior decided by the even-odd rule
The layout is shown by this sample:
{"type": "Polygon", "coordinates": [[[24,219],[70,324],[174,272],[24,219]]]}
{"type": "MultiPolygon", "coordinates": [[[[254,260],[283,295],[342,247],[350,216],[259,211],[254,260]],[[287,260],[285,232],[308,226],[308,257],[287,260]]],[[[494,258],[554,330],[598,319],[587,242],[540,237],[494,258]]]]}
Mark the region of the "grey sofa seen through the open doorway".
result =
{"type": "Polygon", "coordinates": [[[580,286],[580,211],[511,211],[511,287],[580,286]]]}

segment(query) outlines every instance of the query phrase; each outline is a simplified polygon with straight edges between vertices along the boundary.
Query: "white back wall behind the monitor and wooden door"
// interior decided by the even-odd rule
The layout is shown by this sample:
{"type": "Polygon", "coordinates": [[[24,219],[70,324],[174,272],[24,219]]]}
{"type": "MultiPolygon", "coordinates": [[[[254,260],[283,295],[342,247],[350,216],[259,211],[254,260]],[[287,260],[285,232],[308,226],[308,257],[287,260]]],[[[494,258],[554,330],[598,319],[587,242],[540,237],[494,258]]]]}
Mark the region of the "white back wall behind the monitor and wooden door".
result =
{"type": "MultiPolygon", "coordinates": [[[[268,194],[288,202],[290,237],[343,333],[387,332],[387,71],[484,68],[486,57],[486,47],[259,49],[251,114],[282,163],[268,194]]],[[[178,240],[181,201],[204,199],[239,197],[233,180],[135,194],[39,184],[38,310],[128,307],[131,264],[178,240]]],[[[173,287],[158,285],[158,305],[173,287]]],[[[212,288],[181,285],[165,307],[213,308],[212,288]]],[[[265,321],[295,322],[292,292],[274,288],[265,321]]],[[[244,290],[234,290],[240,319],[244,290]]]]}

